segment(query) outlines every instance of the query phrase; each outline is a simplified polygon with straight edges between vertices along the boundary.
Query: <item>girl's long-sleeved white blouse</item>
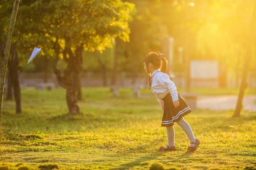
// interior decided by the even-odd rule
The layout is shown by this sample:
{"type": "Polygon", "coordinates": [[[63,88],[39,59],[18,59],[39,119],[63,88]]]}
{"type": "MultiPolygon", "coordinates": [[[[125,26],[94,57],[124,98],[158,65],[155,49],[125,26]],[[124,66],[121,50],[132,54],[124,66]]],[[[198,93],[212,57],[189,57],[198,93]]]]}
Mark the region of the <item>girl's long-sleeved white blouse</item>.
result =
{"type": "Polygon", "coordinates": [[[175,84],[171,81],[170,77],[158,69],[150,75],[152,92],[156,95],[157,100],[161,107],[164,107],[164,101],[162,100],[168,93],[171,94],[173,102],[177,101],[178,94],[175,84]]]}

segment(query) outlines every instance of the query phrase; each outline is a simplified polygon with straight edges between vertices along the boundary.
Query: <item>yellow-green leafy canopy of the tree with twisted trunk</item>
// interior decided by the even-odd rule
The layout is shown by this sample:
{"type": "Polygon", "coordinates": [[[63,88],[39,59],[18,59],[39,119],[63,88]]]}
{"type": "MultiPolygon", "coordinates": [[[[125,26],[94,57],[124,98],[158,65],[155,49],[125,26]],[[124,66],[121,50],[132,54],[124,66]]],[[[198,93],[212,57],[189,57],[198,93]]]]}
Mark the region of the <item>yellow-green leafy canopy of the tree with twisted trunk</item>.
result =
{"type": "MultiPolygon", "coordinates": [[[[112,38],[116,36],[129,40],[128,20],[132,9],[130,3],[113,0],[37,0],[20,9],[23,18],[20,24],[28,24],[28,36],[29,33],[45,36],[44,42],[48,44],[37,40],[43,49],[54,49],[52,42],[64,40],[64,46],[68,44],[75,48],[82,44],[87,50],[102,51],[111,46],[112,38]]],[[[22,29],[20,24],[17,27],[22,29]]]]}

